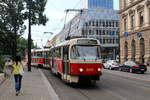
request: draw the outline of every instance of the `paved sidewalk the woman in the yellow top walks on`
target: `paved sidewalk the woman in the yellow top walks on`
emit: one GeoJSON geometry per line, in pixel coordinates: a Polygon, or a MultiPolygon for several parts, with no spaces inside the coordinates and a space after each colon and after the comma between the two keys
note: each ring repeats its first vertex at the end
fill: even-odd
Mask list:
{"type": "Polygon", "coordinates": [[[15,95],[14,84],[14,78],[11,76],[0,85],[0,100],[59,100],[39,69],[32,68],[32,72],[25,71],[19,96],[15,95]]]}

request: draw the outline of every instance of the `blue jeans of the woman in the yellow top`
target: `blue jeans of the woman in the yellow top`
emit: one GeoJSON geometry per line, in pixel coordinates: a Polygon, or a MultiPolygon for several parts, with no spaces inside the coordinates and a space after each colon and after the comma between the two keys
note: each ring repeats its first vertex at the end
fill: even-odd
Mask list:
{"type": "Polygon", "coordinates": [[[15,78],[15,88],[16,88],[16,92],[17,92],[17,91],[20,91],[20,89],[21,89],[22,75],[15,74],[14,78],[15,78]]]}

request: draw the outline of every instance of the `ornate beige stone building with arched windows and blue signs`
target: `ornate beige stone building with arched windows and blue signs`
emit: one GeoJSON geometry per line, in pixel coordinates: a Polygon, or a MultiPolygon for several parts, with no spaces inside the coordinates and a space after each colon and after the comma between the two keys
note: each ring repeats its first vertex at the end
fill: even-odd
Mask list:
{"type": "Polygon", "coordinates": [[[150,0],[120,0],[121,61],[150,57],[150,0]]]}

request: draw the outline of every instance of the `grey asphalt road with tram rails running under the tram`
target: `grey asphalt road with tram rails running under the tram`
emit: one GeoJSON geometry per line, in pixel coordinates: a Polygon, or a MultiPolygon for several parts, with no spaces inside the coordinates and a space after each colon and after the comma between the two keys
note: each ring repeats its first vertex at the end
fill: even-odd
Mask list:
{"type": "Polygon", "coordinates": [[[96,85],[70,86],[50,71],[43,72],[60,100],[150,100],[150,73],[105,70],[96,85]]]}

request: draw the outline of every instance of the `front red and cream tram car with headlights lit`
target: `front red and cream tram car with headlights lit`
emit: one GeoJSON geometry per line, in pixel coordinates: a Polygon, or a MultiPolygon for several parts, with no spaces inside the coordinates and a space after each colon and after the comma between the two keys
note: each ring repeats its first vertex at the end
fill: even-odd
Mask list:
{"type": "Polygon", "coordinates": [[[103,64],[97,39],[76,38],[50,49],[50,68],[68,83],[99,80],[103,64]]]}

